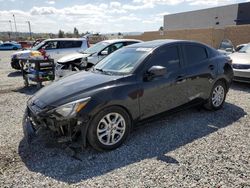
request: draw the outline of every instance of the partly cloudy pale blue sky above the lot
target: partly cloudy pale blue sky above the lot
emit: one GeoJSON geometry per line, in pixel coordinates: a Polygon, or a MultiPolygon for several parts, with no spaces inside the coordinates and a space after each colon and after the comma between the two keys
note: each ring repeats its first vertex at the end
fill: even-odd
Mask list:
{"type": "Polygon", "coordinates": [[[0,0],[0,31],[143,32],[158,30],[163,15],[249,0],[0,0]],[[9,22],[11,20],[11,22],[9,22]],[[11,23],[11,26],[10,26],[11,23]]]}

